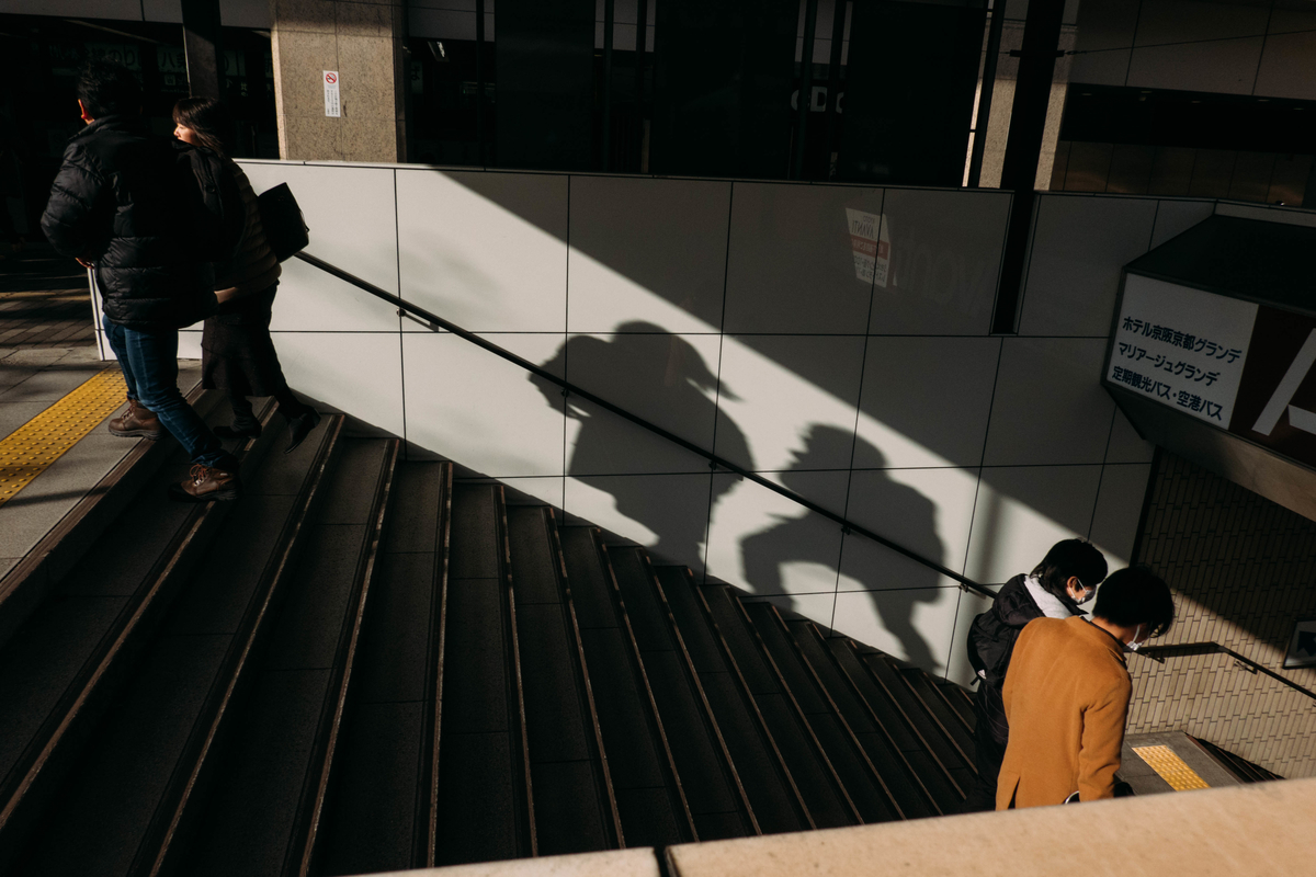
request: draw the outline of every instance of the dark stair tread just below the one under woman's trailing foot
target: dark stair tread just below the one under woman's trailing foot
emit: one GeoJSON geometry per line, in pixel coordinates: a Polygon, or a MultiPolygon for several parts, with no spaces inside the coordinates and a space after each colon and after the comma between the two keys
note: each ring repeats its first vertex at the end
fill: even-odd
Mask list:
{"type": "Polygon", "coordinates": [[[305,527],[230,730],[188,874],[305,873],[392,480],[393,440],[347,439],[305,527]]]}

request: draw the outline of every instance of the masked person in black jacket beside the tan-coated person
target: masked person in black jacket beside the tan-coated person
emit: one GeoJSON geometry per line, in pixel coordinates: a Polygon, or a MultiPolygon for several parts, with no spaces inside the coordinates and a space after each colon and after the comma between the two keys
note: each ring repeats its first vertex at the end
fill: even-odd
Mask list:
{"type": "Polygon", "coordinates": [[[969,628],[969,663],[979,680],[974,698],[978,778],[965,801],[965,813],[996,809],[996,777],[1009,742],[1001,688],[1015,640],[1034,618],[1086,614],[1080,606],[1096,597],[1105,572],[1105,557],[1090,542],[1057,542],[1032,573],[1001,585],[991,609],[974,618],[969,628]]]}

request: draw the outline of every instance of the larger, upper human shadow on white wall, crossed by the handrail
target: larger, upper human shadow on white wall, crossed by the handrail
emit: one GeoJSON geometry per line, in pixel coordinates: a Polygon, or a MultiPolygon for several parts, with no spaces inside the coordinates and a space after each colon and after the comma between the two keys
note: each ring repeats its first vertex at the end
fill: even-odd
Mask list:
{"type": "MultiPolygon", "coordinates": [[[[717,375],[679,335],[646,322],[626,322],[615,331],[611,341],[576,335],[553,359],[541,363],[541,368],[567,375],[571,363],[572,384],[711,450],[717,404],[709,394],[737,397],[726,387],[719,391],[717,375]],[[691,435],[703,423],[708,425],[707,438],[691,435]]],[[[550,406],[561,405],[562,388],[536,375],[530,375],[530,381],[550,406]]],[[[616,476],[594,477],[588,483],[611,493],[620,514],[657,534],[658,540],[649,546],[655,559],[687,564],[701,575],[700,546],[708,510],[740,479],[711,479],[704,460],[579,396],[567,396],[566,415],[580,422],[566,473],[580,479],[616,476]],[[697,497],[674,480],[637,477],[678,471],[704,476],[697,497]]],[[[745,435],[725,417],[717,421],[717,450],[721,456],[749,459],[745,435]]]]}

